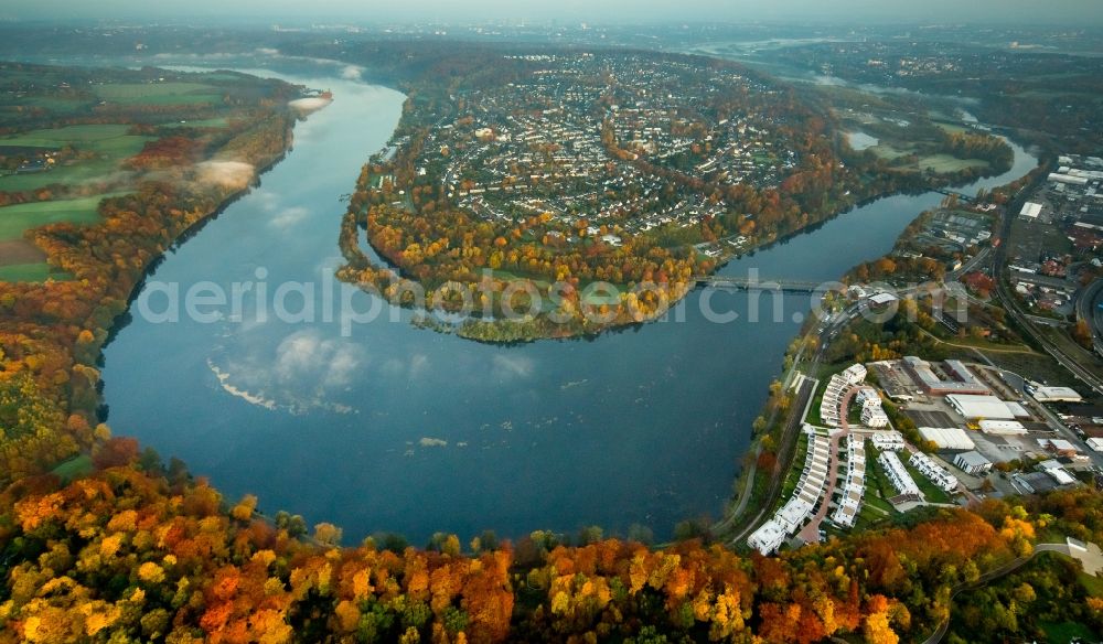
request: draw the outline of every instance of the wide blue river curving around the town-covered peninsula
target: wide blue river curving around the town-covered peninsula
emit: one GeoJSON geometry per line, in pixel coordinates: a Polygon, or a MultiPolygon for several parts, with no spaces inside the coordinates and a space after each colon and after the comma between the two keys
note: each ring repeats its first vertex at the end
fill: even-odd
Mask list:
{"type": "MultiPolygon", "coordinates": [[[[147,289],[336,288],[341,197],[389,138],[404,97],[336,73],[289,79],[332,89],[335,101],[299,124],[287,159],[171,251],[147,289]]],[[[1007,183],[1036,162],[1016,147],[1010,172],[964,191],[1007,183]]],[[[724,272],[835,279],[887,251],[940,200],[877,201],[724,272]]],[[[347,337],[335,321],[258,322],[248,305],[245,323],[136,314],[105,352],[109,422],[184,460],[231,501],[255,493],[263,511],[335,523],[346,541],[593,524],[620,534],[642,524],[663,538],[677,520],[717,516],[730,497],[751,421],[799,329],[792,315],[808,309],[807,297],[785,297],[781,320],[754,323],[747,294],[706,292],[685,300],[682,321],[522,346],[418,330],[407,312],[347,337]],[[710,322],[703,297],[740,318],[710,322]]]]}

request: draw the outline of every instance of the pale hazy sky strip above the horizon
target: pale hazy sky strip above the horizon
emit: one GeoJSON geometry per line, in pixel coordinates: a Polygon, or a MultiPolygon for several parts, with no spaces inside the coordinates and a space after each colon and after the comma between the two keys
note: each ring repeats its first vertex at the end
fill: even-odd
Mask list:
{"type": "Polygon", "coordinates": [[[600,22],[829,20],[1103,24],[1100,0],[0,0],[0,19],[529,19],[600,22]]]}

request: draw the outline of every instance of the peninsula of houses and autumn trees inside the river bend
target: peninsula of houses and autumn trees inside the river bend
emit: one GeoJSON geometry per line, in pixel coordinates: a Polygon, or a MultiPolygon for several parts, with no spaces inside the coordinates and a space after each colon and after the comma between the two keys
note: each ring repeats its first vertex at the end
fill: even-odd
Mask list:
{"type": "MultiPolygon", "coordinates": [[[[661,319],[732,257],[874,198],[999,172],[1014,155],[995,137],[946,135],[917,114],[934,132],[924,153],[967,151],[990,162],[941,174],[887,164],[852,149],[842,117],[823,114],[817,96],[719,60],[698,67],[697,56],[679,61],[683,98],[662,100],[694,97],[700,114],[676,131],[653,128],[655,140],[641,147],[618,126],[615,105],[586,127],[576,121],[601,106],[585,98],[517,120],[504,106],[539,100],[540,85],[486,77],[462,64],[472,55],[449,79],[482,87],[470,97],[442,92],[432,73],[409,79],[397,130],[350,198],[340,277],[373,294],[404,293],[387,297],[392,304],[421,309],[433,300],[447,314],[435,328],[483,342],[593,336],[661,319]],[[733,72],[726,78],[739,99],[714,105],[715,87],[699,84],[713,67],[733,72]],[[760,112],[771,116],[749,116],[760,112]],[[549,130],[563,140],[546,140],[549,130]],[[667,151],[672,140],[685,146],[667,151]],[[612,294],[596,297],[598,288],[612,294]]],[[[665,69],[670,57],[636,63],[665,69]]],[[[533,72],[508,60],[502,64],[520,78],[555,75],[565,64],[533,72]]],[[[611,95],[624,82],[597,78],[580,96],[611,95]]]]}

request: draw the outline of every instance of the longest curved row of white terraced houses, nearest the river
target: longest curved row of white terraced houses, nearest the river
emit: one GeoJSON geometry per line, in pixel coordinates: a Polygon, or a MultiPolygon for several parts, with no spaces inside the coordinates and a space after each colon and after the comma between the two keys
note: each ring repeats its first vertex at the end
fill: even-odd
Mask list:
{"type": "Polygon", "coordinates": [[[831,468],[831,442],[826,437],[817,436],[808,425],[804,426],[804,432],[808,434],[808,450],[793,497],[774,513],[773,518],[747,538],[747,545],[763,555],[775,551],[808,520],[823,496],[827,476],[834,475],[831,468]]]}

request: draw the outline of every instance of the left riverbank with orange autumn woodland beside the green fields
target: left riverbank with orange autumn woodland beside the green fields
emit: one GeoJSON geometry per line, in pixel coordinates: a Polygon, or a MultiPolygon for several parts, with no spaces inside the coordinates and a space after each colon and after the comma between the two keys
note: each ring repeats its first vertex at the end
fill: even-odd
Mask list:
{"type": "MultiPolygon", "coordinates": [[[[21,67],[6,67],[6,73],[13,68],[21,67]]],[[[74,85],[98,79],[100,92],[114,93],[110,110],[82,116],[79,99],[75,105],[57,100],[29,117],[23,129],[46,132],[55,137],[51,144],[78,151],[122,140],[127,144],[115,150],[108,165],[113,182],[126,182],[127,190],[88,200],[93,210],[82,225],[47,219],[24,232],[64,279],[0,283],[0,386],[19,390],[20,407],[28,410],[26,420],[3,437],[0,481],[41,474],[74,454],[104,448],[110,432],[99,425],[98,365],[104,346],[125,323],[128,302],[174,244],[228,207],[290,149],[296,117],[287,104],[299,96],[292,85],[246,76],[161,72],[163,83],[152,84],[146,80],[157,71],[150,69],[33,69],[74,85]],[[162,107],[150,118],[149,93],[163,98],[197,86],[223,94],[162,107]],[[50,109],[60,112],[52,116],[50,109]],[[141,124],[135,125],[139,117],[141,124]],[[75,118],[93,122],[46,127],[75,118]],[[185,121],[197,125],[183,127],[185,121]],[[76,139],[58,138],[66,133],[76,139]]],[[[47,189],[36,193],[38,202],[50,202],[54,194],[64,198],[69,182],[100,169],[100,161],[77,153],[72,163],[43,175],[47,189]]]]}

